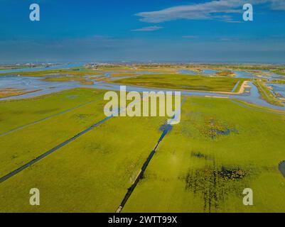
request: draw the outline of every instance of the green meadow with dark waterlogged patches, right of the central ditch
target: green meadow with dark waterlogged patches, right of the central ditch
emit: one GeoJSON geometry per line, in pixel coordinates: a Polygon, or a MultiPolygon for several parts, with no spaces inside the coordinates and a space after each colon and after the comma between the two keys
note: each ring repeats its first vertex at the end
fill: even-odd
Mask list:
{"type": "Polygon", "coordinates": [[[125,212],[285,211],[284,116],[205,98],[189,98],[182,111],[125,212]],[[254,206],[242,204],[244,188],[254,206]]]}

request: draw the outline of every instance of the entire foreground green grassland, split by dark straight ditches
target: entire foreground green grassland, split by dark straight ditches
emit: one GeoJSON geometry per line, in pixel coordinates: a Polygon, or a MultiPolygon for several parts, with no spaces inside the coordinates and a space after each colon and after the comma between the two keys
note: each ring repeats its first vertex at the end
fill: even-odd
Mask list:
{"type": "MultiPolygon", "coordinates": [[[[0,177],[105,118],[104,91],[0,102],[0,177]],[[11,130],[8,134],[7,133],[11,130]]],[[[123,212],[284,210],[284,113],[188,97],[123,212]],[[244,188],[254,206],[242,204],[244,188]]],[[[161,136],[163,117],[110,118],[0,183],[0,211],[114,212],[161,136]],[[31,188],[41,205],[29,204],[31,188]]]]}

